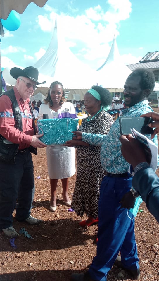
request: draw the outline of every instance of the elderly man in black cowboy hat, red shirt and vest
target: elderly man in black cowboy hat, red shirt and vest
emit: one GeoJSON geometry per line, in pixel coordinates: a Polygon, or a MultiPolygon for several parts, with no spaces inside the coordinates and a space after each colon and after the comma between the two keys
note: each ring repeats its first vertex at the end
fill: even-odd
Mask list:
{"type": "Polygon", "coordinates": [[[15,218],[29,224],[41,220],[30,215],[34,198],[34,174],[32,151],[46,146],[36,135],[34,117],[30,104],[39,83],[38,70],[32,66],[23,70],[14,67],[10,70],[16,85],[0,96],[0,229],[8,237],[19,234],[12,226],[15,218]],[[16,206],[17,201],[17,206],[16,206]]]}

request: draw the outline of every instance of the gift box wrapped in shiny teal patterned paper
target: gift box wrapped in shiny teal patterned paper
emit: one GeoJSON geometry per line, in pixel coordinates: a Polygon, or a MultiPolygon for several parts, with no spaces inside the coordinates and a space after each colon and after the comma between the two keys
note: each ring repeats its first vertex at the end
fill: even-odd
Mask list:
{"type": "Polygon", "coordinates": [[[46,145],[58,145],[72,140],[72,131],[77,131],[78,121],[72,118],[38,120],[38,134],[44,134],[39,140],[46,145]]]}

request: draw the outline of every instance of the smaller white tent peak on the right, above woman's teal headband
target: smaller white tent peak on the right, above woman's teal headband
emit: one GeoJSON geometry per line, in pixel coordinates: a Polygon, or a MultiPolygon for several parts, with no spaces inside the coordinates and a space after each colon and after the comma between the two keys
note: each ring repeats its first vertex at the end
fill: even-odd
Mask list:
{"type": "MultiPolygon", "coordinates": [[[[123,89],[125,81],[132,72],[121,60],[115,37],[104,64],[97,69],[98,85],[104,88],[123,89]]],[[[119,91],[120,92],[120,91],[119,91]]]]}

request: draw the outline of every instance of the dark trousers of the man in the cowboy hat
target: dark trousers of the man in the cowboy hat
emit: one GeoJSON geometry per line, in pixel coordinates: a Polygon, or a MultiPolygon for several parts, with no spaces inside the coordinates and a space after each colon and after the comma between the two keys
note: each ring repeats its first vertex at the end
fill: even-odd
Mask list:
{"type": "Polygon", "coordinates": [[[15,207],[18,221],[29,217],[34,191],[33,162],[29,149],[18,152],[13,164],[0,161],[0,229],[12,225],[15,207]]]}

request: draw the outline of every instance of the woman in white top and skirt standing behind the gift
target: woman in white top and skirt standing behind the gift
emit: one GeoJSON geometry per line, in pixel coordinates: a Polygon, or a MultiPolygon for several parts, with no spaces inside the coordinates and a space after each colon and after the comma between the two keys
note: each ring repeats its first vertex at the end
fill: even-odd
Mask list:
{"type": "MultiPolygon", "coordinates": [[[[48,104],[41,104],[38,119],[43,119],[43,114],[48,114],[49,119],[58,117],[59,113],[75,113],[72,103],[65,102],[63,85],[53,82],[48,93],[48,104]]],[[[67,206],[71,206],[68,196],[68,178],[75,174],[75,148],[62,145],[47,145],[46,147],[48,174],[51,185],[50,210],[56,211],[56,188],[58,179],[61,179],[63,192],[62,197],[67,206]]]]}

